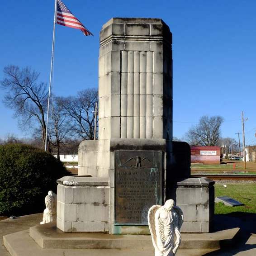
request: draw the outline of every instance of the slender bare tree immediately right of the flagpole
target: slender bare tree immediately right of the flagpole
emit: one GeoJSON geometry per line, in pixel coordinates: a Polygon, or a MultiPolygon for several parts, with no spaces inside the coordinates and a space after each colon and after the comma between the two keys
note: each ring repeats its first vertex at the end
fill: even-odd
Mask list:
{"type": "Polygon", "coordinates": [[[52,105],[51,116],[51,144],[57,149],[57,158],[60,159],[60,148],[65,144],[68,134],[70,133],[71,124],[68,120],[68,114],[65,112],[62,98],[55,98],[52,105]]]}

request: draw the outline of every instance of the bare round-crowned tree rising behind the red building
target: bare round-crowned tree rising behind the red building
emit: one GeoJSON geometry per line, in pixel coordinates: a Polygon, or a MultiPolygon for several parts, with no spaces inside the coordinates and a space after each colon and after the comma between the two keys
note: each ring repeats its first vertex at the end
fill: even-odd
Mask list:
{"type": "Polygon", "coordinates": [[[217,146],[222,123],[220,116],[202,116],[199,123],[186,133],[187,141],[190,145],[217,146]]]}

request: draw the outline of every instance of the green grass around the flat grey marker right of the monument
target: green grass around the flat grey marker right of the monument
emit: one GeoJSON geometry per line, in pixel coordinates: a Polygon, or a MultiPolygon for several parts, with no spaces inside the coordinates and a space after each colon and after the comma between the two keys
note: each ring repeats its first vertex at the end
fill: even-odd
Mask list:
{"type": "Polygon", "coordinates": [[[227,183],[227,187],[215,184],[216,196],[229,196],[245,204],[244,206],[230,207],[223,203],[215,203],[215,214],[233,212],[256,213],[256,183],[227,183]]]}

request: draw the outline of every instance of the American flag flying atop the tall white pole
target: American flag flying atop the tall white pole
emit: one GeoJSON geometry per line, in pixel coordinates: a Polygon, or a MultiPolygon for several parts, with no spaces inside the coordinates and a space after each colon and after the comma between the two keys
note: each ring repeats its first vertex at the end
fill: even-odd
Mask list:
{"type": "Polygon", "coordinates": [[[85,36],[93,34],[71,13],[61,0],[57,0],[57,24],[80,29],[85,36]]]}

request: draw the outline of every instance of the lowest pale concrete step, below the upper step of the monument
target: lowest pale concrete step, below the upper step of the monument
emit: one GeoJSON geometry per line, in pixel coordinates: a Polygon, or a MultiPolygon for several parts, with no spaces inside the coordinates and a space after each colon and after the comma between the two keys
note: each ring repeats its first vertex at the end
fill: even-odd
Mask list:
{"type": "MultiPolygon", "coordinates": [[[[29,230],[6,235],[4,244],[11,256],[153,256],[149,249],[43,249],[29,236],[29,230]]],[[[203,256],[216,249],[179,249],[176,256],[203,256]]]]}

